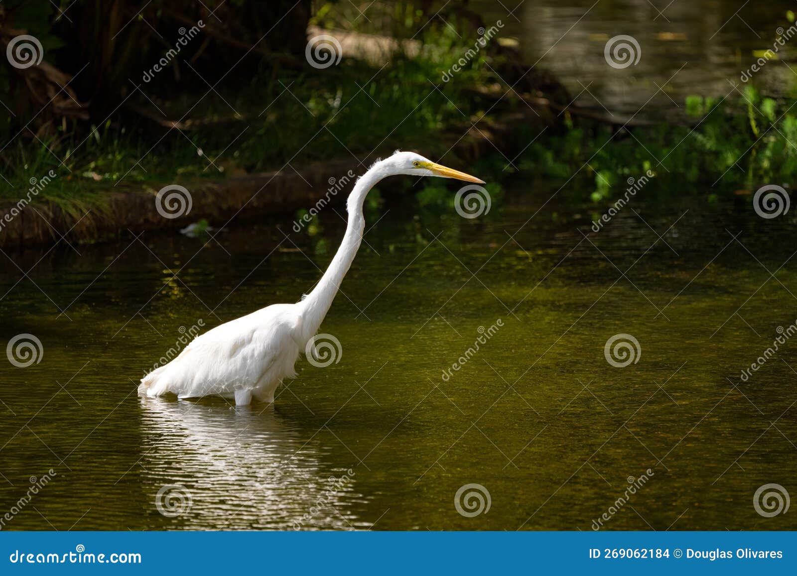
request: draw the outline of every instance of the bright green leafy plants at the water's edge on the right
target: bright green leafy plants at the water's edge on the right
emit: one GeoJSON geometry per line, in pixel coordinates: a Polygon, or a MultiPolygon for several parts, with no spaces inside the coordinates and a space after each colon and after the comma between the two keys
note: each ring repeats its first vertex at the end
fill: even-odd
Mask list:
{"type": "Polygon", "coordinates": [[[762,96],[751,85],[733,100],[688,96],[689,125],[659,124],[566,134],[534,143],[521,168],[570,178],[579,167],[594,179],[591,198],[611,197],[627,178],[652,170],[654,186],[705,186],[715,192],[754,189],[762,183],[791,184],[797,174],[795,100],[762,96]],[[633,131],[631,137],[628,131],[633,131]]]}

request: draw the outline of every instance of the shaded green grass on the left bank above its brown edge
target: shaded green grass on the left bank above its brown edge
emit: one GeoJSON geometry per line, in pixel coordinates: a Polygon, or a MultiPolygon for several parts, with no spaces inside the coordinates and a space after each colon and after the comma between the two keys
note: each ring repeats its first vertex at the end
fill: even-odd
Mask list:
{"type": "MultiPolygon", "coordinates": [[[[475,113],[478,104],[468,108],[473,98],[465,89],[485,80],[487,55],[481,53],[438,89],[429,79],[450,68],[472,40],[430,25],[417,41],[420,52],[410,57],[398,51],[384,66],[350,58],[323,70],[275,69],[261,62],[251,76],[231,76],[213,90],[197,89],[195,82],[178,86],[165,70],[160,73],[168,81],[142,84],[140,94],[125,99],[116,114],[86,126],[53,123],[41,142],[27,132],[14,137],[23,122],[10,121],[10,146],[0,159],[11,186],[2,196],[18,198],[29,178],[50,169],[65,177],[37,201],[70,188],[92,195],[108,186],[290,170],[312,160],[384,153],[408,144],[440,148],[440,129],[467,126],[475,113]],[[141,118],[141,109],[150,113],[141,118]],[[165,120],[175,120],[175,127],[163,125],[165,120]]],[[[177,60],[173,65],[186,66],[177,60]]]]}

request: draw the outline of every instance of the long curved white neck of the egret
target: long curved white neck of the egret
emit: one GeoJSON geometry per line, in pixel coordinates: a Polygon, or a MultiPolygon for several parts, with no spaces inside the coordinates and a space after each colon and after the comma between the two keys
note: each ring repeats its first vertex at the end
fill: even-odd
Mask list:
{"type": "Polygon", "coordinates": [[[346,272],[351,267],[351,262],[359,249],[360,242],[363,241],[363,231],[365,230],[365,218],[363,217],[363,202],[371,188],[388,174],[381,163],[375,164],[361,178],[357,180],[351,190],[347,201],[348,223],[344,239],[340,243],[340,248],[332,258],[329,268],[321,276],[321,280],[316,284],[299,305],[302,307],[301,338],[303,341],[311,339],[324,321],[332,300],[340,289],[346,272]]]}

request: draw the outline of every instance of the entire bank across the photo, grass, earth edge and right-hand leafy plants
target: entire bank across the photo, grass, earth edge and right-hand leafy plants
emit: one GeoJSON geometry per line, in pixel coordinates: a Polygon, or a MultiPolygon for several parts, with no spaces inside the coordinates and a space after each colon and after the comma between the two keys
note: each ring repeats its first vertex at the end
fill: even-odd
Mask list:
{"type": "Polygon", "coordinates": [[[125,99],[118,117],[88,134],[9,148],[0,247],[290,214],[340,186],[331,179],[362,174],[396,148],[455,167],[493,156],[492,173],[480,167],[485,179],[523,171],[569,185],[596,206],[646,174],[654,174],[646,191],[666,180],[709,201],[764,185],[788,194],[794,183],[792,99],[748,84],[727,100],[689,96],[685,121],[595,112],[488,31],[485,49],[469,54],[465,39],[399,43],[336,30],[347,58],[310,76],[254,76],[201,97],[147,86],[149,94],[125,99]],[[184,207],[172,198],[180,214],[160,206],[164,187],[183,195],[184,207]]]}

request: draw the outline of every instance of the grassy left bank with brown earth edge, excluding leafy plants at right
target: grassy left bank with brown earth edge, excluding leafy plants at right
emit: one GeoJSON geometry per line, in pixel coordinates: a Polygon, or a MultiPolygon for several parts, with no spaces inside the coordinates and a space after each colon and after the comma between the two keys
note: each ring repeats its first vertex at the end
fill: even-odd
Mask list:
{"type": "MultiPolygon", "coordinates": [[[[322,52],[332,46],[345,57],[327,64],[308,54],[306,68],[230,76],[210,91],[186,82],[175,92],[163,75],[163,84],[145,79],[90,129],[60,135],[47,124],[51,135],[26,142],[14,141],[22,130],[12,131],[0,246],[102,241],[202,220],[218,229],[232,218],[309,209],[328,195],[329,182],[362,174],[397,148],[458,167],[486,155],[514,157],[519,128],[536,134],[563,127],[562,119],[512,97],[498,103],[476,88],[506,90],[497,76],[514,82],[520,74],[516,91],[559,100],[567,93],[497,39],[490,43],[496,31],[485,32],[462,68],[469,39],[429,33],[397,42],[311,25],[311,42],[329,34],[322,52]],[[455,66],[454,76],[441,79],[455,66]],[[176,206],[179,214],[162,206],[175,190],[185,204],[176,206]]],[[[335,194],[332,202],[340,199],[335,194]]]]}

